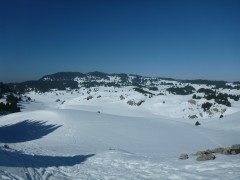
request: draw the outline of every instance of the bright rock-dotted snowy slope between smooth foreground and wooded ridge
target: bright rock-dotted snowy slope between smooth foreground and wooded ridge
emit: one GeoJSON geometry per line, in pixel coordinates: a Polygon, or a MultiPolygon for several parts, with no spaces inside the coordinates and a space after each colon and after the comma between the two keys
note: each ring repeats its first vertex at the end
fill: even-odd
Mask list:
{"type": "MultiPolygon", "coordinates": [[[[200,86],[201,87],[201,86],[200,86]]],[[[153,91],[151,93],[154,93],[153,91]]],[[[238,95],[238,91],[235,94],[238,95]]],[[[134,87],[95,87],[77,90],[52,90],[45,93],[30,91],[26,94],[32,103],[22,103],[25,110],[29,109],[77,109],[93,112],[104,112],[122,116],[155,116],[171,118],[219,118],[240,111],[240,101],[229,99],[231,107],[214,103],[214,100],[192,99],[190,95],[149,96],[136,92],[134,87]],[[140,103],[140,105],[137,105],[140,103]],[[211,102],[212,107],[204,111],[202,104],[211,102]]],[[[198,96],[201,94],[198,93],[198,96]]]]}

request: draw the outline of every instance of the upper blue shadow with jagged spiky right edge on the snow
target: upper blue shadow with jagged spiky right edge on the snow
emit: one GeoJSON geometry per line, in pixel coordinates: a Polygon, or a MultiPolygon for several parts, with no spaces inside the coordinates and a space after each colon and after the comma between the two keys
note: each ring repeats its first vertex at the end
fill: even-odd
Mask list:
{"type": "Polygon", "coordinates": [[[47,125],[46,121],[25,120],[0,127],[0,142],[20,143],[40,139],[55,131],[60,125],[47,125]]]}

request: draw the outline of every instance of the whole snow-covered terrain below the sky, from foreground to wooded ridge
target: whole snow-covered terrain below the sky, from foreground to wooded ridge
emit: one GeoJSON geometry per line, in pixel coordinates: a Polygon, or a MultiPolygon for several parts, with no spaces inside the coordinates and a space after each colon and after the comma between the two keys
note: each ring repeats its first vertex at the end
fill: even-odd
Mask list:
{"type": "Polygon", "coordinates": [[[0,179],[240,177],[240,154],[194,155],[240,144],[237,82],[94,72],[9,86],[22,112],[0,116],[0,179]]]}

